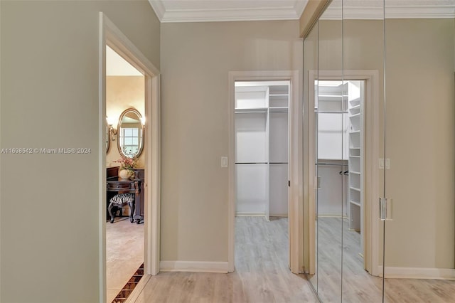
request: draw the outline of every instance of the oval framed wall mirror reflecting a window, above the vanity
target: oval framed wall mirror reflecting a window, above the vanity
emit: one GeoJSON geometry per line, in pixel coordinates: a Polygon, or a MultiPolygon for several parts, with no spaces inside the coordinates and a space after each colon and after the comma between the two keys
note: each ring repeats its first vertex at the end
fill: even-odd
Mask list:
{"type": "Polygon", "coordinates": [[[141,113],[134,108],[122,112],[117,127],[119,153],[128,158],[137,158],[144,149],[144,127],[141,113]]]}

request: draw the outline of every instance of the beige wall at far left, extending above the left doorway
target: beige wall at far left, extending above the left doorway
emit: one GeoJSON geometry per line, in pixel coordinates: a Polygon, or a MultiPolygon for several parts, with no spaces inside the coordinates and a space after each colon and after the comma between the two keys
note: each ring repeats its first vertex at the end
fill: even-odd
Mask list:
{"type": "MultiPolygon", "coordinates": [[[[0,1],[1,302],[98,302],[98,28],[105,12],[159,67],[148,1],[0,1]],[[10,125],[18,125],[11,128],[10,125]]],[[[104,152],[103,149],[100,152],[104,152]]]]}

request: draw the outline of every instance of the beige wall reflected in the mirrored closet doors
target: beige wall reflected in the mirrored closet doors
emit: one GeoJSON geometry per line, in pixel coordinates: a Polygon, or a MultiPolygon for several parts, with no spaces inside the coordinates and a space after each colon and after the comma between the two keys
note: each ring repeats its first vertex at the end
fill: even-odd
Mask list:
{"type": "MultiPolygon", "coordinates": [[[[319,23],[321,69],[341,66],[339,23],[319,23]]],[[[386,266],[454,268],[454,20],[388,19],[386,28],[386,196],[394,201],[386,266]]],[[[382,21],[345,21],[343,38],[345,70],[379,70],[383,100],[382,21]]],[[[316,67],[313,40],[306,43],[305,75],[316,67]]],[[[382,101],[379,108],[383,154],[382,101]]]]}

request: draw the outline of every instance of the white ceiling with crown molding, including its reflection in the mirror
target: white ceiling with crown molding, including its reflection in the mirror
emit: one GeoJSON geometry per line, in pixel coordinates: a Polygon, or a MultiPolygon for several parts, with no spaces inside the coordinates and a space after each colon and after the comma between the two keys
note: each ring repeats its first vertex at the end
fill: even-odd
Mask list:
{"type": "MultiPolygon", "coordinates": [[[[316,0],[149,0],[162,23],[297,20],[316,0]]],[[[383,0],[343,0],[344,18],[382,18],[383,0]]],[[[387,18],[454,18],[455,0],[385,0],[387,18]]],[[[333,0],[326,18],[341,16],[333,0]]]]}

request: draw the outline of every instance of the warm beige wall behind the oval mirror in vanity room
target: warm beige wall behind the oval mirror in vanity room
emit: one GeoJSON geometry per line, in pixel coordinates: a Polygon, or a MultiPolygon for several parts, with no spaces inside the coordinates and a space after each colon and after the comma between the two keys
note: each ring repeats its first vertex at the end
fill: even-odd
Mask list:
{"type": "MultiPolygon", "coordinates": [[[[134,108],[145,117],[145,78],[144,76],[107,76],[106,77],[106,116],[115,119],[118,123],[120,115],[128,108],[134,108]]],[[[112,127],[117,129],[117,123],[112,127]]],[[[147,132],[147,129],[145,130],[147,132]]],[[[106,166],[118,166],[120,159],[116,141],[111,141],[109,152],[106,155],[106,166]]],[[[146,146],[139,156],[137,167],[144,167],[146,146]]]]}

